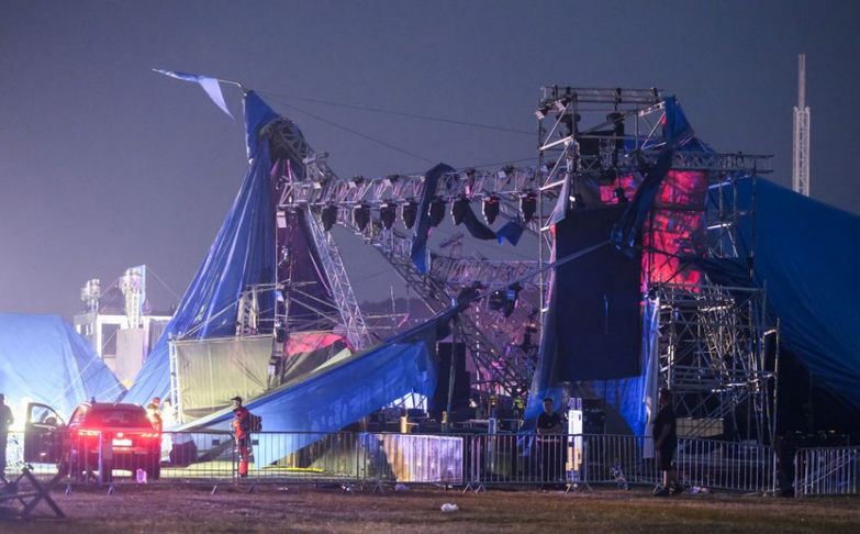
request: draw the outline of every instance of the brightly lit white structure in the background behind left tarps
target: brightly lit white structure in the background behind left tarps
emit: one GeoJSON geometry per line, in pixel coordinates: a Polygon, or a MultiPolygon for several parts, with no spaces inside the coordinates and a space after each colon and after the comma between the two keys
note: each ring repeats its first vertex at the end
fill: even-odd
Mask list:
{"type": "Polygon", "coordinates": [[[112,287],[98,278],[80,290],[86,312],[75,315],[75,330],[92,345],[126,386],[161,335],[170,315],[152,315],[146,300],[146,266],[130,267],[112,287]]]}

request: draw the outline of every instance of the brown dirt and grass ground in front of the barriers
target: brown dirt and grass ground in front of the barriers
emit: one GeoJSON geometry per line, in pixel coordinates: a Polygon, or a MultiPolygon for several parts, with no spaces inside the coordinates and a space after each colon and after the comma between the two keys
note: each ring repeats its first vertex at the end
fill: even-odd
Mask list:
{"type": "MultiPolygon", "coordinates": [[[[860,532],[860,499],[778,499],[736,494],[655,498],[647,489],[487,492],[410,488],[383,493],[339,487],[167,485],[57,488],[65,520],[9,519],[2,533],[667,533],[860,532]],[[457,504],[443,512],[445,503],[457,504]]],[[[40,504],[44,516],[49,509],[40,504]]]]}

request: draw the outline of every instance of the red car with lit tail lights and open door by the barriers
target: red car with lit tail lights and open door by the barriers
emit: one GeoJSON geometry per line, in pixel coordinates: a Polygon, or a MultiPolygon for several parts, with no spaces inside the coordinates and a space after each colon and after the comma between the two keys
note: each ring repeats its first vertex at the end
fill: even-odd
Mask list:
{"type": "Polygon", "coordinates": [[[139,404],[83,402],[68,424],[51,407],[31,404],[24,432],[25,461],[67,465],[76,480],[98,471],[100,457],[108,479],[113,469],[161,476],[161,434],[139,404]]]}

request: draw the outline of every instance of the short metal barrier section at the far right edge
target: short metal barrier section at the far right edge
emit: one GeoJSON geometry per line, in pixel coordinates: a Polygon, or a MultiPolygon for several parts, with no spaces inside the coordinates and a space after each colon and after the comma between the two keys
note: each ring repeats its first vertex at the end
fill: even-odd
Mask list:
{"type": "Polygon", "coordinates": [[[801,448],[794,455],[794,494],[849,496],[860,492],[858,447],[801,448]]]}

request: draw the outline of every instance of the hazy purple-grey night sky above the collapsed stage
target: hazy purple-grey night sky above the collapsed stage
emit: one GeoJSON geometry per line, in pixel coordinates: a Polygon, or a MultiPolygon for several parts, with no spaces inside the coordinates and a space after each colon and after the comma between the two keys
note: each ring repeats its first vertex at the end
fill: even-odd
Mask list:
{"type": "MultiPolygon", "coordinates": [[[[541,86],[656,86],[791,187],[805,53],[812,196],[858,213],[858,24],[852,1],[3,0],[0,312],[71,321],[86,280],[141,264],[155,309],[185,292],[245,175],[242,93],[232,122],[154,67],[242,81],[342,177],[533,165],[541,86]]],[[[348,248],[359,300],[388,293],[377,256],[348,248]]]]}

